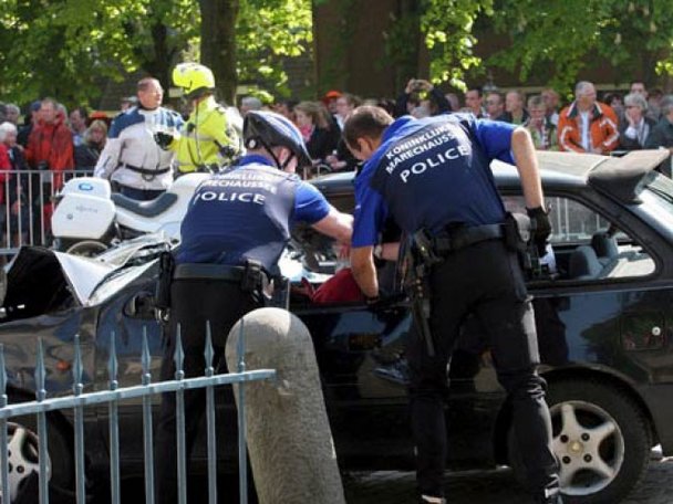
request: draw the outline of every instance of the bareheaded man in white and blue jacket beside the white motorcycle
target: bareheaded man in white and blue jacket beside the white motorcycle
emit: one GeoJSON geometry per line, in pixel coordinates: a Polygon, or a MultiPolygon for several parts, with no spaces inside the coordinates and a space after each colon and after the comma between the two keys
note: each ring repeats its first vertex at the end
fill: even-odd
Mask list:
{"type": "Polygon", "coordinates": [[[157,130],[177,130],[183,118],[162,107],[164,90],[152,77],[137,84],[138,105],[117,115],[94,169],[94,177],[108,179],[118,192],[135,200],[157,198],[173,183],[173,153],[154,141],[157,130]]]}

